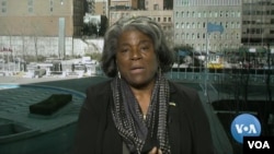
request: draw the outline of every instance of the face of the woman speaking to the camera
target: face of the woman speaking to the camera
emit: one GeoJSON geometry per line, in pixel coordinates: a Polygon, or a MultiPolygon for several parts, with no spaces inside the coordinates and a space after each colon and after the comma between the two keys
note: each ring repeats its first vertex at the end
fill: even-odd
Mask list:
{"type": "Polygon", "coordinates": [[[129,29],[118,38],[116,63],[121,76],[132,86],[145,86],[153,82],[158,60],[150,37],[137,29],[129,29]]]}

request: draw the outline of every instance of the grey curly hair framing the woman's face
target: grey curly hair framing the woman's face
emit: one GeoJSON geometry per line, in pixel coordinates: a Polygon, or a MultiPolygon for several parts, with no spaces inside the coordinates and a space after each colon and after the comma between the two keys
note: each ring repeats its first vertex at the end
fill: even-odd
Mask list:
{"type": "Polygon", "coordinates": [[[123,32],[137,29],[151,38],[162,72],[168,72],[174,61],[173,51],[168,47],[161,26],[147,16],[123,17],[109,27],[104,36],[101,67],[103,72],[114,78],[117,74],[116,49],[123,32]]]}

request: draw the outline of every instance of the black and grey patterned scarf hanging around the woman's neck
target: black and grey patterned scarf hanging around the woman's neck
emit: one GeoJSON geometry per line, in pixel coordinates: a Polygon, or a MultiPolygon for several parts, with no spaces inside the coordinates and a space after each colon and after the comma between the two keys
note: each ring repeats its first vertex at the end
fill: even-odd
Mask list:
{"type": "Polygon", "coordinates": [[[112,115],[115,127],[133,154],[149,152],[158,146],[170,154],[167,116],[169,103],[169,83],[157,75],[151,102],[146,118],[128,84],[119,78],[112,82],[114,104],[112,115]]]}

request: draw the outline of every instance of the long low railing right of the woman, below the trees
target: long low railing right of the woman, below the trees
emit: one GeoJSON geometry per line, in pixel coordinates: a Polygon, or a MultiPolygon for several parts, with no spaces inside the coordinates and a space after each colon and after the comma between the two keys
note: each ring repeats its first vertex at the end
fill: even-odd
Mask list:
{"type": "Polygon", "coordinates": [[[167,78],[172,80],[181,80],[185,82],[197,82],[197,83],[224,83],[224,82],[242,82],[248,81],[249,84],[266,84],[267,75],[270,76],[270,85],[274,85],[274,70],[267,69],[173,69],[165,74],[167,78]],[[270,73],[270,74],[269,74],[270,73]],[[243,81],[244,80],[244,81],[243,81]]]}

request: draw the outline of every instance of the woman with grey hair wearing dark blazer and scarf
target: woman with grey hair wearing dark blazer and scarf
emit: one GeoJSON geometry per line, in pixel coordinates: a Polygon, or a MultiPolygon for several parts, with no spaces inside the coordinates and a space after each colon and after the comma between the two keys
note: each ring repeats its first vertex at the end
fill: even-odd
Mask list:
{"type": "Polygon", "coordinates": [[[197,93],[168,81],[172,51],[149,17],[122,19],[104,38],[102,69],[112,80],[87,90],[77,154],[213,154],[197,93]]]}

